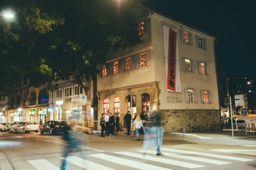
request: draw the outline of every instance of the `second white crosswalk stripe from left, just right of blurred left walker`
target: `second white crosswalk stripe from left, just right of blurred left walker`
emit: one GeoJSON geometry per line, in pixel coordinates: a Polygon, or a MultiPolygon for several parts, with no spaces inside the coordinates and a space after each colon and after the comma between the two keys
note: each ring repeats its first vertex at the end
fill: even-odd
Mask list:
{"type": "MultiPolygon", "coordinates": [[[[64,159],[64,158],[61,158],[61,159],[64,159]]],[[[75,164],[79,167],[85,168],[85,169],[114,170],[112,168],[109,168],[109,167],[106,167],[106,166],[103,166],[103,165],[100,165],[100,164],[96,164],[96,163],[90,162],[89,160],[85,160],[85,159],[82,159],[82,158],[79,158],[79,157],[76,157],[76,156],[68,156],[67,161],[72,163],[72,164],[75,164]]]]}

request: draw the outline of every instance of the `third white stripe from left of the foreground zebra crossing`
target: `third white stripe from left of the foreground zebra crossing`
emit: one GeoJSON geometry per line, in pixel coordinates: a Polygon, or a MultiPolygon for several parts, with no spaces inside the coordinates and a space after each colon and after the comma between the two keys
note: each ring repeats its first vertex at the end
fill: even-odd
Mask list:
{"type": "MultiPolygon", "coordinates": [[[[89,156],[95,157],[95,158],[100,158],[103,160],[107,160],[108,162],[113,162],[116,164],[120,164],[120,165],[125,165],[125,166],[129,166],[129,167],[133,167],[136,169],[141,169],[141,170],[167,170],[169,168],[164,168],[164,167],[160,167],[160,166],[155,166],[155,165],[148,165],[148,164],[144,164],[144,163],[140,163],[137,161],[133,161],[133,160],[129,160],[129,159],[124,159],[124,158],[119,158],[116,156],[111,156],[111,155],[106,155],[106,154],[91,154],[89,156]]],[[[140,155],[140,157],[142,157],[140,155]]],[[[169,169],[170,170],[170,169],[169,169]]]]}

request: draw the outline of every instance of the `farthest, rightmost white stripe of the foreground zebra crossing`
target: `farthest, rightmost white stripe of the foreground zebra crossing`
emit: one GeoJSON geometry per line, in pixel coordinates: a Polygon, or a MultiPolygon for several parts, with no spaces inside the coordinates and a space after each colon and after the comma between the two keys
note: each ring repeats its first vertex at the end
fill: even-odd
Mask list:
{"type": "Polygon", "coordinates": [[[217,154],[207,154],[207,153],[203,153],[203,152],[186,151],[186,150],[169,149],[169,148],[161,149],[161,150],[180,152],[180,153],[183,153],[183,154],[194,154],[194,155],[209,156],[209,157],[214,157],[214,158],[237,160],[237,161],[242,161],[242,162],[247,162],[247,161],[254,160],[254,159],[238,158],[238,157],[233,157],[233,156],[225,156],[225,155],[217,155],[217,154]]]}

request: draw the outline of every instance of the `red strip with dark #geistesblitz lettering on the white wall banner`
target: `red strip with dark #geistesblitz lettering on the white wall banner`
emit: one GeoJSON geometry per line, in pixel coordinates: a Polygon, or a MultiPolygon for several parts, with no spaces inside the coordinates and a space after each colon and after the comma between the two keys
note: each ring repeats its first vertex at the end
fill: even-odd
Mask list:
{"type": "Polygon", "coordinates": [[[169,28],[167,89],[175,91],[176,87],[176,46],[177,32],[169,28]]]}

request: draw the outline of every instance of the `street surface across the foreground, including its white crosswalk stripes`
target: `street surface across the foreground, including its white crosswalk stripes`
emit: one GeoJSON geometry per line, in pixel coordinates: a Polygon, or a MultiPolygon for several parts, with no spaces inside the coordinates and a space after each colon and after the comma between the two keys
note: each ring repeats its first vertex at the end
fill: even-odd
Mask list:
{"type": "MultiPolygon", "coordinates": [[[[209,134],[209,137],[183,138],[181,134],[165,134],[164,156],[156,156],[155,147],[142,156],[143,140],[137,141],[123,132],[113,138],[101,138],[100,134],[77,135],[81,143],[70,152],[67,169],[255,169],[255,137],[219,137],[209,134]]],[[[60,169],[66,147],[62,134],[0,132],[0,167],[60,169]]]]}

